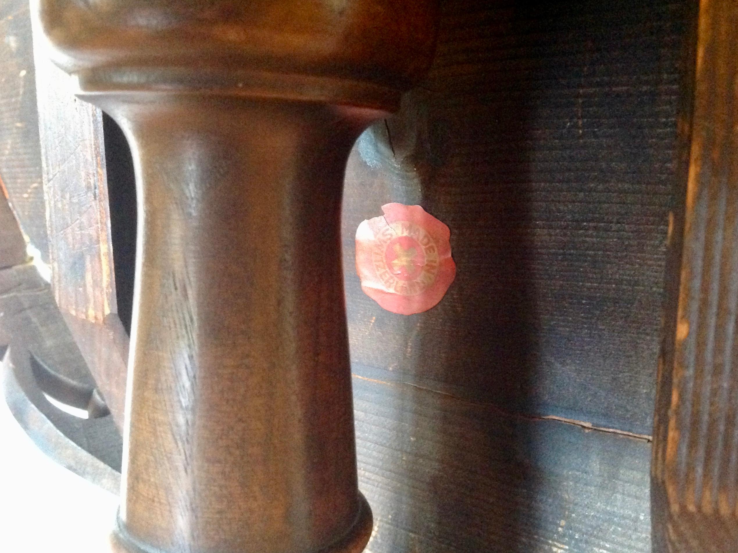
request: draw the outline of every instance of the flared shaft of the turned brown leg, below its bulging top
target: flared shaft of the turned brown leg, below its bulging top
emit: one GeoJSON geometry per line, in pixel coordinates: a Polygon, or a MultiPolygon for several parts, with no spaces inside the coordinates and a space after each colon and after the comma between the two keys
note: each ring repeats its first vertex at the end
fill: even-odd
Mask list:
{"type": "Polygon", "coordinates": [[[373,113],[100,101],[141,196],[123,524],[165,551],[319,551],[361,505],[339,209],[373,113]]]}

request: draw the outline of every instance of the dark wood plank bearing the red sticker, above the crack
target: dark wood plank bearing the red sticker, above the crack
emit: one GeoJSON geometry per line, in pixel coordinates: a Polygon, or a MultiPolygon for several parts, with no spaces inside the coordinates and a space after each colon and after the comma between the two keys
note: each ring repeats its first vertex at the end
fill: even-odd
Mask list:
{"type": "Polygon", "coordinates": [[[348,164],[354,364],[650,434],[688,4],[441,3],[430,77],[348,164]],[[451,229],[456,280],[427,313],[359,288],[354,232],[390,201],[451,229]]]}

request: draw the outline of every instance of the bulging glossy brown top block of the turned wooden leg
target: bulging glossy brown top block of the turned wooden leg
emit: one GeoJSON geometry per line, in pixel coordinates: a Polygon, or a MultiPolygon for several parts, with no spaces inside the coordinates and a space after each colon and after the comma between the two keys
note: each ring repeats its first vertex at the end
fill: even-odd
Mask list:
{"type": "Polygon", "coordinates": [[[89,90],[386,105],[424,74],[435,41],[432,0],[35,1],[53,59],[89,90]]]}

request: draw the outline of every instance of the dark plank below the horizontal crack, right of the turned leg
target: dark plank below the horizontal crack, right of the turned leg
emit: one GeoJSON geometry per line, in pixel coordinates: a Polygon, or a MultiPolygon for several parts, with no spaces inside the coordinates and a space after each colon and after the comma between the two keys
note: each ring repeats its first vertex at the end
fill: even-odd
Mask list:
{"type": "Polygon", "coordinates": [[[644,439],[354,378],[370,553],[649,552],[644,439]]]}

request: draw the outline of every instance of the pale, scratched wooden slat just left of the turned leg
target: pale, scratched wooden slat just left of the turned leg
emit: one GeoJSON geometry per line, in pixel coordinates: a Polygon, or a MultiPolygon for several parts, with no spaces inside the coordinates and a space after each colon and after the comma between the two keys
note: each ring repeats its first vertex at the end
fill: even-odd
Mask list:
{"type": "Polygon", "coordinates": [[[38,35],[34,55],[52,290],[122,427],[128,344],[117,316],[103,114],[75,97],[38,35]]]}

